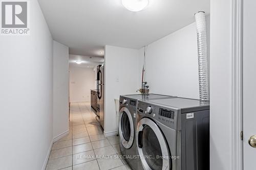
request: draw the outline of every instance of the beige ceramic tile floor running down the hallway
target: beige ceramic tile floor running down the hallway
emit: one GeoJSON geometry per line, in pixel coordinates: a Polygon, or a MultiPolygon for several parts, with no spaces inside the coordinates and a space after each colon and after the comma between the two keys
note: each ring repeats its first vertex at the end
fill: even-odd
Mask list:
{"type": "Polygon", "coordinates": [[[125,160],[116,158],[119,137],[103,135],[90,103],[72,103],[70,112],[69,135],[53,143],[47,170],[131,169],[125,160]]]}

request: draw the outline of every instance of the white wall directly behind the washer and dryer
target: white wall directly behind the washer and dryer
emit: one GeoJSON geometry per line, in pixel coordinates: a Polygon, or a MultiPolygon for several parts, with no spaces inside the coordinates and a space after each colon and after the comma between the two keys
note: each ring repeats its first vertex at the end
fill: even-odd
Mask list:
{"type": "MultiPolygon", "coordinates": [[[[207,28],[209,35],[209,16],[207,28]]],[[[140,81],[143,51],[141,48],[139,52],[140,81]]],[[[199,99],[196,23],[149,44],[145,69],[145,81],[151,93],[199,99]]]]}

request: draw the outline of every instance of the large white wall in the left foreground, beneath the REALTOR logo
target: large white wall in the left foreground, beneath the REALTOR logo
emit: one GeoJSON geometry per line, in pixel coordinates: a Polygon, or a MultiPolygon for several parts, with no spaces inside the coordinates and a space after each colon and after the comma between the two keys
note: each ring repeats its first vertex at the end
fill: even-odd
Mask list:
{"type": "Polygon", "coordinates": [[[0,169],[42,169],[53,139],[53,40],[37,1],[30,35],[1,36],[0,56],[0,169]]]}

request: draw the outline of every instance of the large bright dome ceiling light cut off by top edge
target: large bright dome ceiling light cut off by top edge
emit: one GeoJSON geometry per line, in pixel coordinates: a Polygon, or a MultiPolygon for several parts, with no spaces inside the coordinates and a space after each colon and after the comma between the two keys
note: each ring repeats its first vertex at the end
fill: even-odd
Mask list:
{"type": "Polygon", "coordinates": [[[148,0],[121,0],[122,5],[130,11],[138,12],[146,8],[148,0]]]}

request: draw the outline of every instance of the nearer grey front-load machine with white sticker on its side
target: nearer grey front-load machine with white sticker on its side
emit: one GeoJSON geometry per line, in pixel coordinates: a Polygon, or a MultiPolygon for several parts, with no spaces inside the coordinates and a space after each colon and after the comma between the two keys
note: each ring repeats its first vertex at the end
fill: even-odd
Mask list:
{"type": "Polygon", "coordinates": [[[138,169],[209,169],[209,102],[138,101],[138,169]]]}

